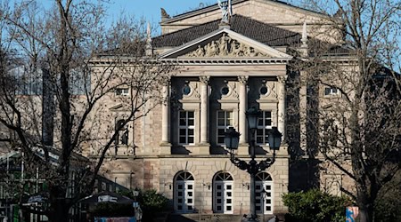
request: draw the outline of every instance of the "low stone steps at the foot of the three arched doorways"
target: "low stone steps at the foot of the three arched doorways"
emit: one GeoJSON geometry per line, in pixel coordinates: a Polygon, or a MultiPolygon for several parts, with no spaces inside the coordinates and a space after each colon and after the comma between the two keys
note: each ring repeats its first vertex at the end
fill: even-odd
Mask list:
{"type": "MultiPolygon", "coordinates": [[[[273,218],[273,215],[259,215],[259,221],[262,222],[268,221],[270,218],[273,218]]],[[[166,222],[241,222],[242,215],[233,215],[233,214],[170,214],[166,222]]],[[[158,221],[165,222],[165,221],[158,221]]]]}

